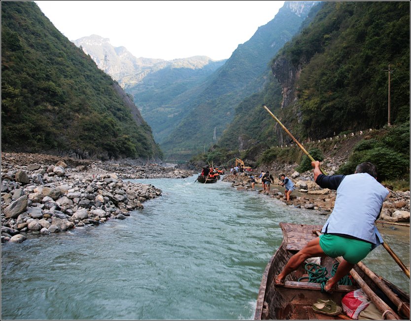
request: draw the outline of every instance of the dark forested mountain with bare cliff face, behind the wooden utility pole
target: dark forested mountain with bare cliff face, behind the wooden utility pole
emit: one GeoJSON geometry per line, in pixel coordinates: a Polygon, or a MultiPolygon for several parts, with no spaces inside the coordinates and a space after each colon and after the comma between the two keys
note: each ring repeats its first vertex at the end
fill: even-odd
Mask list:
{"type": "Polygon", "coordinates": [[[388,117],[388,68],[391,124],[407,123],[410,2],[327,1],[271,67],[270,83],[237,106],[220,146],[290,142],[263,104],[300,140],[380,128],[388,117]]]}

